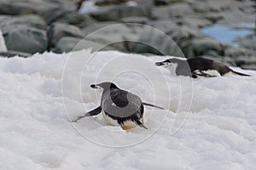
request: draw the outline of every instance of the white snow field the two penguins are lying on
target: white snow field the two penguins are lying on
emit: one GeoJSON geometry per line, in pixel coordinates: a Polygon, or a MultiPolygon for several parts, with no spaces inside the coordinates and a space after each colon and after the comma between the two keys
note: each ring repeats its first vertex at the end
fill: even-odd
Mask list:
{"type": "Polygon", "coordinates": [[[160,56],[116,51],[0,58],[0,169],[254,169],[256,71],[172,77],[160,56]],[[91,83],[113,81],[169,111],[145,109],[124,131],[102,115],[91,83]]]}

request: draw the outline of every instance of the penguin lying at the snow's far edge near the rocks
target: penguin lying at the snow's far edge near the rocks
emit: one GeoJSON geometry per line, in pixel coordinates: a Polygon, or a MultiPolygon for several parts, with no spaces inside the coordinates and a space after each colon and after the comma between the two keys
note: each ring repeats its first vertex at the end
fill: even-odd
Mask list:
{"type": "Polygon", "coordinates": [[[250,75],[233,71],[232,69],[230,69],[229,66],[224,65],[218,61],[202,57],[196,57],[191,59],[166,59],[165,61],[156,62],[155,65],[173,65],[174,67],[176,67],[175,72],[177,76],[190,76],[193,78],[216,77],[216,74],[213,75],[213,72],[217,72],[220,76],[224,76],[225,74],[231,72],[239,76],[250,77],[250,75]]]}

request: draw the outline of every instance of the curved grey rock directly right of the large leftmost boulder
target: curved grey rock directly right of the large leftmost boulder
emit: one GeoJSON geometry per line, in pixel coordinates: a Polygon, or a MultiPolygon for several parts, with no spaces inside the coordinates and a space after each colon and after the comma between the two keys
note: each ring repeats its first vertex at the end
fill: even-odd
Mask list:
{"type": "Polygon", "coordinates": [[[55,48],[61,37],[84,37],[79,27],[64,23],[54,23],[49,27],[48,38],[49,48],[55,48]]]}

